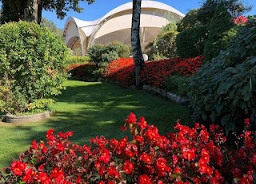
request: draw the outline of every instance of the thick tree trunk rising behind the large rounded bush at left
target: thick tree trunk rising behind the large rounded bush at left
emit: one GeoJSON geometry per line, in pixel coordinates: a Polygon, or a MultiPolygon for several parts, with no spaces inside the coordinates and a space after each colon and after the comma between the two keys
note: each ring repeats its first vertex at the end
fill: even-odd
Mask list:
{"type": "Polygon", "coordinates": [[[27,0],[24,9],[24,21],[38,22],[38,2],[40,0],[27,0]]]}

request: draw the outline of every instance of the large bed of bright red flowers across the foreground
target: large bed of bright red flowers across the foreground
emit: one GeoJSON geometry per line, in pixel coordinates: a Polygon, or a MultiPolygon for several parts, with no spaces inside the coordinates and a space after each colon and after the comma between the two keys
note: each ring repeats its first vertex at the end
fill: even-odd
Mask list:
{"type": "Polygon", "coordinates": [[[132,139],[90,139],[93,146],[70,143],[71,131],[54,135],[50,129],[46,142],[33,141],[30,149],[14,160],[1,183],[255,183],[255,132],[237,135],[238,149],[226,148],[226,137],[218,125],[209,131],[195,123],[193,128],[177,123],[176,132],[159,135],[158,128],[137,121],[131,113],[126,119],[132,139]]]}

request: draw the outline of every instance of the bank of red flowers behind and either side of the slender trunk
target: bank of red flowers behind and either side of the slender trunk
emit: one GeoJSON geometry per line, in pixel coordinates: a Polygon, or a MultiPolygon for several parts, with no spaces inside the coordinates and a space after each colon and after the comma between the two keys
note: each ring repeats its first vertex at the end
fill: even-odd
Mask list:
{"type": "MultiPolygon", "coordinates": [[[[172,74],[190,76],[202,66],[203,57],[188,59],[172,58],[161,61],[146,62],[140,79],[143,84],[161,88],[166,78],[172,74]]],[[[134,84],[134,61],[132,58],[121,58],[110,62],[103,76],[118,81],[125,86],[134,84]]]]}

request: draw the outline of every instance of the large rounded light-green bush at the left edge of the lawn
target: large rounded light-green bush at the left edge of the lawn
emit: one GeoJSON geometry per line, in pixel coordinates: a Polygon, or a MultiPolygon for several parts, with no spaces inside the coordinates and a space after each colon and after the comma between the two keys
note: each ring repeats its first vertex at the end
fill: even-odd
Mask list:
{"type": "Polygon", "coordinates": [[[4,108],[11,113],[47,108],[50,96],[64,88],[65,43],[50,29],[28,22],[1,25],[0,40],[4,108]]]}

